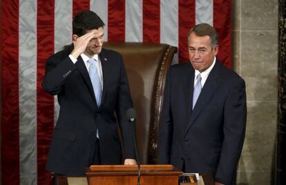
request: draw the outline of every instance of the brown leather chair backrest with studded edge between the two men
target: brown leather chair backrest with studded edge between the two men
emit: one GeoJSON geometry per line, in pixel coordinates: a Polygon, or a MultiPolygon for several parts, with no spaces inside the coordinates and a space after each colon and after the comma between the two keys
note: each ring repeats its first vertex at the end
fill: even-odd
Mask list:
{"type": "Polygon", "coordinates": [[[142,164],[155,163],[166,72],[177,48],[157,43],[104,43],[122,54],[137,113],[136,139],[142,164]]]}

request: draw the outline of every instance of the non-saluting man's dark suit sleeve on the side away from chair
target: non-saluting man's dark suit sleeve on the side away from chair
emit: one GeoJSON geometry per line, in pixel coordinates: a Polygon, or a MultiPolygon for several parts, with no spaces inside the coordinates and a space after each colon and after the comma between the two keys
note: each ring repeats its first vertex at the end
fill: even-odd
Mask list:
{"type": "Polygon", "coordinates": [[[245,139],[247,117],[245,81],[239,79],[230,91],[224,110],[224,141],[215,179],[223,184],[231,184],[245,139]]]}

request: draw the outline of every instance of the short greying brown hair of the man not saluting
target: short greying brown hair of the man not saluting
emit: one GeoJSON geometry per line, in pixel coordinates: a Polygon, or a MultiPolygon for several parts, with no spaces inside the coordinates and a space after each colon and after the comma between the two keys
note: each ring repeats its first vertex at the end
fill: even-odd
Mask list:
{"type": "Polygon", "coordinates": [[[211,48],[213,48],[213,46],[215,45],[218,45],[218,32],[216,32],[216,29],[213,28],[213,26],[210,26],[207,23],[200,23],[194,26],[193,28],[191,28],[191,30],[189,30],[189,33],[188,33],[188,41],[189,41],[191,32],[195,32],[196,35],[199,37],[208,35],[209,39],[211,39],[211,48]]]}

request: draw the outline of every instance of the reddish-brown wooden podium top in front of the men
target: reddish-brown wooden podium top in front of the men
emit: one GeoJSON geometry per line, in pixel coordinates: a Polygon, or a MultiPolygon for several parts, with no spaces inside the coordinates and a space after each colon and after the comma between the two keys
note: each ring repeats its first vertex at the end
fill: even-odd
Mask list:
{"type": "MultiPolygon", "coordinates": [[[[141,165],[141,185],[174,185],[182,171],[172,165],[141,165]]],[[[89,185],[136,185],[137,165],[92,165],[86,168],[89,185]]]]}

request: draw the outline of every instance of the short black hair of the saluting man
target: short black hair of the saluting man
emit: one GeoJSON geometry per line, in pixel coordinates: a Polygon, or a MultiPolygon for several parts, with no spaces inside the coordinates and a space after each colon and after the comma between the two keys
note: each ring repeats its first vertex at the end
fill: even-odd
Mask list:
{"type": "Polygon", "coordinates": [[[84,10],[75,15],[73,19],[73,34],[81,37],[87,30],[94,30],[104,26],[104,22],[93,11],[84,10]]]}

